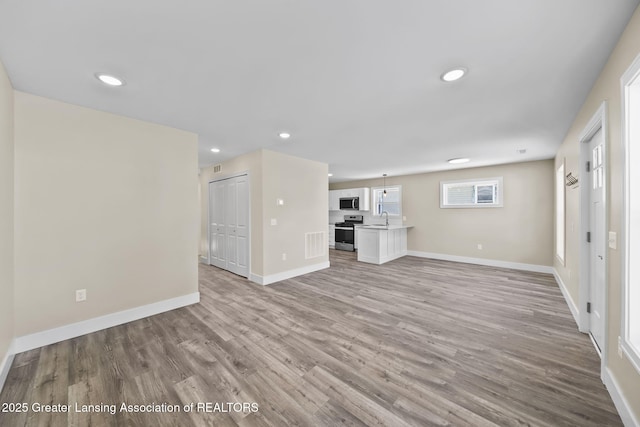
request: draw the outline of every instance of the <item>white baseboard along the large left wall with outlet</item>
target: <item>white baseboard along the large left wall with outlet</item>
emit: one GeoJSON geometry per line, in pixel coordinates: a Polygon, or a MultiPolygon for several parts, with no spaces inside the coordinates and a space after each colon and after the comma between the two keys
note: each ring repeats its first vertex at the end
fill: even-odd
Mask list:
{"type": "Polygon", "coordinates": [[[154,302],[129,310],[118,311],[82,322],[71,323],[58,328],[49,329],[34,334],[24,335],[15,339],[14,353],[33,350],[60,341],[90,334],[102,329],[129,323],[145,317],[175,310],[176,308],[200,302],[200,292],[154,302]]]}

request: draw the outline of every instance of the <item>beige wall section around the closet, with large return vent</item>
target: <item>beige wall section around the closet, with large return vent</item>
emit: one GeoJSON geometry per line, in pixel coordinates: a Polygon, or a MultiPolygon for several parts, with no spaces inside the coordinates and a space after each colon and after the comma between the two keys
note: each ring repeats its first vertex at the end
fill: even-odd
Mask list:
{"type": "Polygon", "coordinates": [[[217,173],[213,166],[201,171],[200,254],[207,255],[208,184],[241,172],[250,175],[253,280],[271,282],[290,272],[328,266],[328,253],[305,259],[304,252],[305,233],[328,229],[328,165],[270,150],[222,162],[217,173]],[[284,205],[278,206],[277,199],[283,199],[284,205]],[[271,225],[271,219],[277,225],[271,225]]]}

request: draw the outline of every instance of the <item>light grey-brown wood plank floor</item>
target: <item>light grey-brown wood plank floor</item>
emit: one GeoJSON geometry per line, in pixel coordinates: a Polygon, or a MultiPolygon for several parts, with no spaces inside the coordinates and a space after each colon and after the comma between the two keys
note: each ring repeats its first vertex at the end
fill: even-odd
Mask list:
{"type": "Polygon", "coordinates": [[[0,402],[118,410],[0,413],[0,425],[622,425],[552,276],[330,256],[330,269],[267,287],[201,266],[200,304],[17,355],[0,402]]]}

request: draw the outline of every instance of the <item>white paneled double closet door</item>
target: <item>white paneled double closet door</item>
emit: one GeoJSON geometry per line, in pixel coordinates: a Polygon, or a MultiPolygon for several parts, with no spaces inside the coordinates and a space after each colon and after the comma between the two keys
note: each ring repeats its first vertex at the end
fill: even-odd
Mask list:
{"type": "Polygon", "coordinates": [[[249,179],[209,183],[209,264],[249,277],[249,179]]]}

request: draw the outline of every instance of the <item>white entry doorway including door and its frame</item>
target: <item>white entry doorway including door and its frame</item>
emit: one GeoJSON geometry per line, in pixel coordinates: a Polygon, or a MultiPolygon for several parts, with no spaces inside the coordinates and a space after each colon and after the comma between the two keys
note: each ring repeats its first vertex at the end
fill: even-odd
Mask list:
{"type": "Polygon", "coordinates": [[[602,358],[607,346],[607,127],[606,102],[580,137],[581,245],[580,330],[587,332],[602,358]]]}

